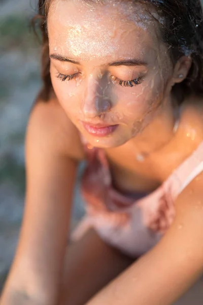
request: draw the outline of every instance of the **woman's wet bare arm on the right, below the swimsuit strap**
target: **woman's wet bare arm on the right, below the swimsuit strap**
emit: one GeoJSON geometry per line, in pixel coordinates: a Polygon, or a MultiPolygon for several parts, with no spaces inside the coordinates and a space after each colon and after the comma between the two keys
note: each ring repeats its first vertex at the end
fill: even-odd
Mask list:
{"type": "Polygon", "coordinates": [[[88,305],[171,305],[203,272],[203,174],[176,202],[174,224],[158,245],[88,305]]]}

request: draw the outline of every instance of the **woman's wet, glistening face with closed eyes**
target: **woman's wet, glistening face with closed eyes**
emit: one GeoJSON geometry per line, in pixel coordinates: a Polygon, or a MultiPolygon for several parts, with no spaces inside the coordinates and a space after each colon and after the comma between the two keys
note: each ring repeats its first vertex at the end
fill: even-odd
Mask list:
{"type": "Polygon", "coordinates": [[[93,146],[122,145],[164,111],[173,68],[143,5],[53,0],[48,35],[58,101],[93,146]]]}

